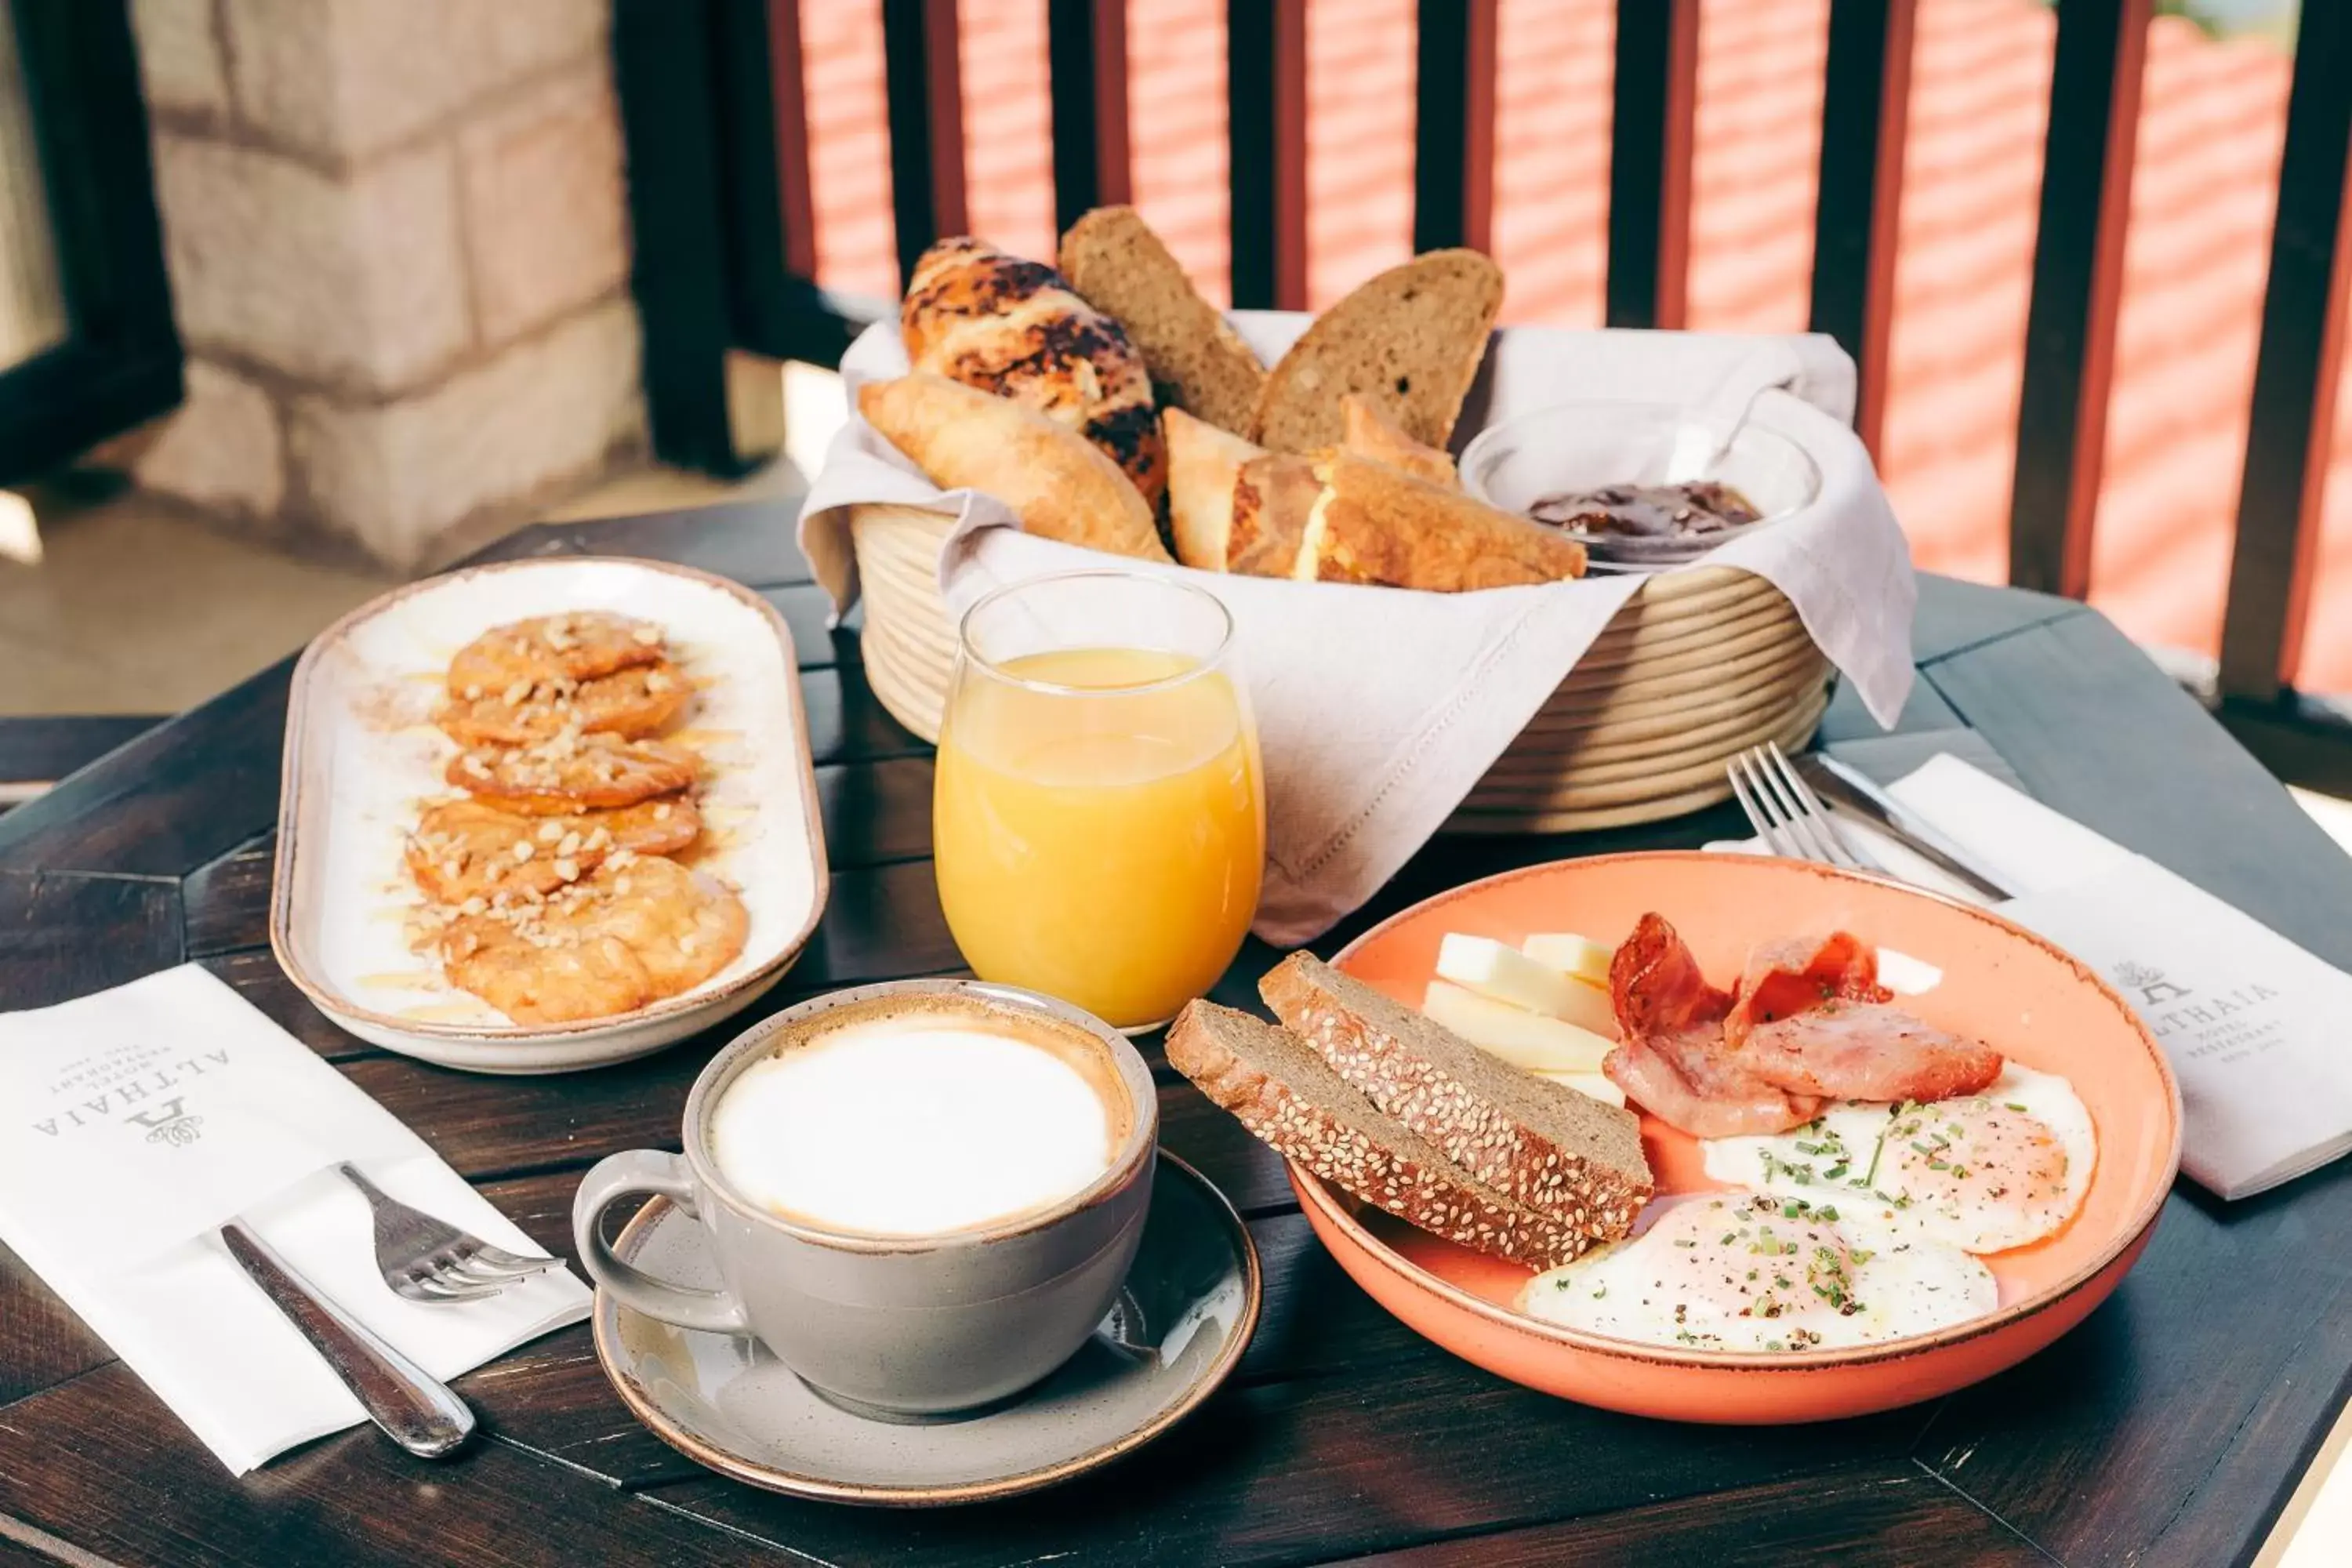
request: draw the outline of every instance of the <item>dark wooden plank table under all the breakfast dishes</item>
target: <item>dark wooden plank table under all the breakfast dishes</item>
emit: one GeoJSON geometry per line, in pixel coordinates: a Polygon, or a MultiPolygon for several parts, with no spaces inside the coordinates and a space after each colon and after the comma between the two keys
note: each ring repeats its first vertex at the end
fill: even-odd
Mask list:
{"type": "MultiPolygon", "coordinates": [[[[623,552],[757,585],[800,646],[833,900],[771,1011],[953,973],[931,886],[929,750],[875,703],[856,637],[776,508],[532,529],[492,555],[623,552]]],[[[2049,804],[2352,966],[2352,863],[2100,616],[1931,581],[1900,726],[1973,726],[2049,804]]],[[[675,1147],[722,1034],[548,1079],[362,1046],[263,931],[287,665],[0,818],[0,1004],[193,959],[348,1072],[541,1244],[583,1166],[675,1147]]],[[[1872,733],[1839,701],[1832,736],[1872,733]]],[[[1439,842],[1362,917],[1505,865],[1738,832],[1726,811],[1576,839],[1439,842]]],[[[1251,999],[1270,952],[1221,987],[1251,999]]],[[[5,1110],[5,1107],[0,1107],[5,1110]]],[[[1162,1067],[1164,1140],[1249,1218],[1265,1321],[1232,1382],[1138,1458],[1035,1497],[896,1514],[696,1469],[607,1389],[588,1331],[459,1387],[487,1441],[447,1465],[372,1427],[233,1481],[0,1251],[0,1568],[68,1563],[2183,1563],[2249,1559],[2345,1401],[2352,1166],[2223,1208],[2178,1190],[2114,1300],[2027,1366],[1870,1420],[1675,1427],[1501,1382],[1425,1345],[1315,1246],[1277,1161],[1162,1067]],[[1835,1554],[1835,1556],[1830,1556],[1835,1554]]]]}

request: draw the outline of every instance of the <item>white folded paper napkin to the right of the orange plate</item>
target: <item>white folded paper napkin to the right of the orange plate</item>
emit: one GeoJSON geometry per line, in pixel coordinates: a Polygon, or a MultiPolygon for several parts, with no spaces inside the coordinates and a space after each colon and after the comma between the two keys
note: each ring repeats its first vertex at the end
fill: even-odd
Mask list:
{"type": "Polygon", "coordinates": [[[1990,903],[2096,969],[2138,1011],[2180,1079],[2180,1168],[2199,1187],[2253,1197],[2352,1152],[2352,1056],[2340,1044],[2352,976],[1957,757],[1933,757],[1886,792],[2020,896],[1985,900],[1842,816],[1879,865],[1990,903]]]}

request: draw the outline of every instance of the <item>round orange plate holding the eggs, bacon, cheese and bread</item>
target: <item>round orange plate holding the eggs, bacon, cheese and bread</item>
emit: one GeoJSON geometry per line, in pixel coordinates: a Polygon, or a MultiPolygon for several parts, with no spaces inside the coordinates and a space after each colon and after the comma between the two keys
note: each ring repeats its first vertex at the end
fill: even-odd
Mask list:
{"type": "MultiPolygon", "coordinates": [[[[1404,1324],[1491,1373],[1611,1410],[1700,1422],[1799,1422],[1933,1399],[2016,1366],[2103,1302],[2147,1248],[2180,1164],[2180,1088],[2131,1009],[2039,936],[1971,905],[1752,856],[1632,853],[1505,872],[1428,898],[1350,943],[1334,964],[1406,1006],[1446,931],[1517,945],[1536,931],[1621,940],[1665,914],[1708,978],[1729,985],[1748,945],[1844,929],[1943,969],[1903,1006],[2039,1072],[2091,1110],[2098,1166],[2082,1208],[2046,1241],[1985,1258],[1999,1309],[1971,1324],[1849,1349],[1700,1352],[1611,1340],[1522,1316],[1531,1272],[1392,1220],[1291,1166],[1315,1234],[1404,1324]]],[[[1642,1143],[1661,1192],[1717,1187],[1693,1138],[1653,1117],[1642,1143]]]]}

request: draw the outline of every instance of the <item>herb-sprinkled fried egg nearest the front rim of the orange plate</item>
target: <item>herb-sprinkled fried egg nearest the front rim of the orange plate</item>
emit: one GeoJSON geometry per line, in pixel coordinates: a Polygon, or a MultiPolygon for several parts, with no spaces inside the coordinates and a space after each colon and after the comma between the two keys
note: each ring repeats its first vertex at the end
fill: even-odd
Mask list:
{"type": "Polygon", "coordinates": [[[1646,1229],[1526,1284],[1548,1324],[1691,1349],[1837,1349],[1931,1333],[1999,1305],[1992,1269],[1837,1204],[1764,1192],[1651,1204],[1646,1229]]]}

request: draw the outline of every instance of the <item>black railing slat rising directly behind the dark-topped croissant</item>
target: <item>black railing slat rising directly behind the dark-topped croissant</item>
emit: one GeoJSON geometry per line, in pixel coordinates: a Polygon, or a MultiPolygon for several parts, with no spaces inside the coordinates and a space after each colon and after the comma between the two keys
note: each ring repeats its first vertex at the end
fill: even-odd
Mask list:
{"type": "Polygon", "coordinates": [[[898,282],[941,235],[964,233],[964,108],[955,0],[882,0],[889,188],[898,282]]]}

